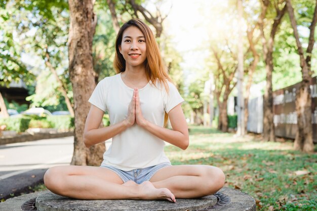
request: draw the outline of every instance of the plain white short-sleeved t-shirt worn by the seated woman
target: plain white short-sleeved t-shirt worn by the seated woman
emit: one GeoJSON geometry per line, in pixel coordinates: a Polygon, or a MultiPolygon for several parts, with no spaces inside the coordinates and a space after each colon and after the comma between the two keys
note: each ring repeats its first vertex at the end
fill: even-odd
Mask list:
{"type": "MultiPolygon", "coordinates": [[[[163,127],[164,113],[169,113],[184,99],[177,88],[168,82],[169,93],[164,85],[162,90],[151,81],[139,89],[140,105],[143,117],[155,125],[163,127]]],[[[108,111],[110,125],[125,120],[133,96],[133,89],[121,78],[121,73],[101,80],[92,93],[89,102],[108,111]]],[[[164,162],[170,162],[164,153],[165,142],[138,126],[136,123],[112,138],[112,144],[103,154],[101,165],[111,165],[123,171],[131,171],[164,162]]]]}

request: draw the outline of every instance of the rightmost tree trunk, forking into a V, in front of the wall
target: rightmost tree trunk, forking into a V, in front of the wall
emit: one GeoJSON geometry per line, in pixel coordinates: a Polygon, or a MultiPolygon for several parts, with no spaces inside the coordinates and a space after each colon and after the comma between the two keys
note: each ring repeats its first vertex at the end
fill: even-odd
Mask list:
{"type": "MultiPolygon", "coordinates": [[[[291,20],[291,25],[294,31],[294,37],[296,39],[297,51],[300,58],[300,66],[302,69],[302,82],[300,84],[299,90],[296,92],[296,113],[297,113],[297,133],[294,142],[294,148],[304,152],[313,152],[314,145],[312,140],[312,124],[311,124],[311,95],[310,95],[310,81],[311,81],[311,71],[310,64],[307,64],[307,61],[310,63],[310,58],[304,56],[304,50],[302,48],[301,42],[299,40],[299,34],[297,31],[297,24],[294,15],[294,9],[290,0],[286,1],[289,17],[291,20]],[[307,60],[308,59],[308,60],[307,60]]],[[[316,7],[313,15],[313,20],[310,25],[310,36],[314,36],[314,29],[317,19],[317,1],[316,7]]],[[[307,55],[310,56],[314,41],[309,40],[307,47],[307,55]],[[310,51],[310,54],[309,54],[310,51]]],[[[308,57],[308,56],[307,56],[308,57]]]]}

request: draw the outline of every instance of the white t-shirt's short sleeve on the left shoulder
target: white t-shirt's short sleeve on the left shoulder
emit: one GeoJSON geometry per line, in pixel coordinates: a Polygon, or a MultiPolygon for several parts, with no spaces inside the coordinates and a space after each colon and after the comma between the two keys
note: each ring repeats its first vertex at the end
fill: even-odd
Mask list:
{"type": "Polygon", "coordinates": [[[107,111],[107,104],[106,104],[106,81],[105,79],[101,80],[95,90],[93,91],[92,95],[89,98],[89,102],[95,107],[101,109],[102,111],[107,111]]]}

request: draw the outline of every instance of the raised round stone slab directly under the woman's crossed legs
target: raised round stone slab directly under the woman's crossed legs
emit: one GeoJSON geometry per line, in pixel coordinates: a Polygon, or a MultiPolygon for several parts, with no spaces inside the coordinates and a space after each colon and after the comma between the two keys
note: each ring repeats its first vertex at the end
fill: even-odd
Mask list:
{"type": "Polygon", "coordinates": [[[176,203],[166,200],[77,200],[56,195],[52,192],[36,198],[37,210],[199,210],[217,203],[214,195],[197,199],[176,199],[176,203]]]}

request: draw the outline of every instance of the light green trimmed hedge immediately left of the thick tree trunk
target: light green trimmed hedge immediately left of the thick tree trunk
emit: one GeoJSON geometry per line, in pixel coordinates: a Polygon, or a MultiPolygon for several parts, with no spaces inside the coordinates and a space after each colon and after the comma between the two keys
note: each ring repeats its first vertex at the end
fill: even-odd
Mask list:
{"type": "Polygon", "coordinates": [[[52,124],[53,128],[59,130],[74,129],[74,118],[69,115],[48,116],[47,120],[52,124]]]}

